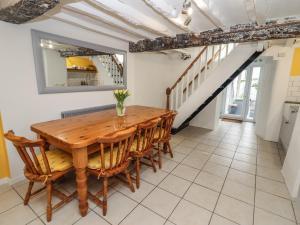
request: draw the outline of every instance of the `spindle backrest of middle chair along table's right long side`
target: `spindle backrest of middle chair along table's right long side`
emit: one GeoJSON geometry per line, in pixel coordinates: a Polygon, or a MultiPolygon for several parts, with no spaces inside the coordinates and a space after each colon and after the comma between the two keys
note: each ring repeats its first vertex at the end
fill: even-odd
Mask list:
{"type": "Polygon", "coordinates": [[[160,120],[158,118],[138,125],[136,142],[134,143],[137,152],[147,152],[152,148],[154,134],[160,120]]]}

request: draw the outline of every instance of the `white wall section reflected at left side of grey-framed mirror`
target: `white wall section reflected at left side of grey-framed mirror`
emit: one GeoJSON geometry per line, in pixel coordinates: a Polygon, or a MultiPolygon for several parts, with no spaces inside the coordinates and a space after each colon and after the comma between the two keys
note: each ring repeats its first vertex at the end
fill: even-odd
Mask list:
{"type": "Polygon", "coordinates": [[[43,61],[47,86],[66,86],[66,59],[61,57],[58,51],[43,48],[43,61]]]}

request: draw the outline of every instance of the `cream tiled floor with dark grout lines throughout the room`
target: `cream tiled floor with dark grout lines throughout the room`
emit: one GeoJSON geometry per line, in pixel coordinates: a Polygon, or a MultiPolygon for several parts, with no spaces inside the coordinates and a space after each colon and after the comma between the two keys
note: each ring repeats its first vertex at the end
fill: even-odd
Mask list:
{"type": "MultiPolygon", "coordinates": [[[[221,122],[216,131],[188,127],[172,146],[174,158],[164,156],[162,170],[143,168],[135,193],[112,182],[106,217],[90,202],[81,218],[74,200],[50,224],[296,225],[296,217],[300,224],[300,205],[290,199],[280,173],[284,154],[276,143],[258,139],[253,124],[221,122]]],[[[89,182],[91,191],[100,188],[96,179],[89,182]]],[[[26,188],[24,182],[0,187],[1,225],[45,223],[45,193],[25,207],[26,188]]],[[[59,188],[70,193],[74,181],[59,188]]]]}

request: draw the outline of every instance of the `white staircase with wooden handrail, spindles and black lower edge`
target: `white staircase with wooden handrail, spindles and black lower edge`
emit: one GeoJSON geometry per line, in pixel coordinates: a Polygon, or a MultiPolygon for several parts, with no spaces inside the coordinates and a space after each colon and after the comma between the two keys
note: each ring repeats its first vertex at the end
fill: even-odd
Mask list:
{"type": "Polygon", "coordinates": [[[189,125],[262,51],[256,44],[204,47],[176,82],[166,90],[167,108],[176,110],[173,133],[189,125]]]}

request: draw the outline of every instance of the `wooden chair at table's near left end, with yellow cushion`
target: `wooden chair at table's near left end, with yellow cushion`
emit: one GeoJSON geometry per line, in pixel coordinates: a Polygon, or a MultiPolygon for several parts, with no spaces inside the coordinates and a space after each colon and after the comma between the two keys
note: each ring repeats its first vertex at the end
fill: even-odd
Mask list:
{"type": "Polygon", "coordinates": [[[13,131],[4,134],[17,149],[25,164],[24,175],[29,180],[29,187],[25,196],[24,205],[27,205],[31,196],[47,189],[47,221],[52,218],[52,211],[68,202],[76,195],[76,192],[67,196],[56,190],[53,183],[65,174],[73,170],[72,157],[63,151],[53,149],[46,151],[45,142],[42,139],[36,141],[24,137],[15,136],[13,131]],[[35,182],[42,182],[45,187],[32,193],[35,182]],[[61,199],[59,203],[52,206],[52,194],[61,199]]]}

